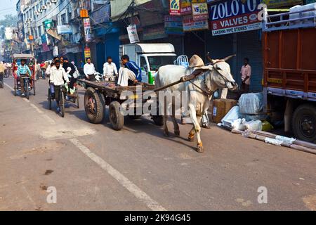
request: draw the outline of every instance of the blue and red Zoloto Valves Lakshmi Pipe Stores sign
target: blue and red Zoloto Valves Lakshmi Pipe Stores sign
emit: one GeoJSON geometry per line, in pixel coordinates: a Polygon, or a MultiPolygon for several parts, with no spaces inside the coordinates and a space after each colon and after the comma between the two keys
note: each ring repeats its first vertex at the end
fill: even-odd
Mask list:
{"type": "Polygon", "coordinates": [[[225,0],[209,4],[213,36],[261,29],[259,4],[260,0],[225,0]]]}

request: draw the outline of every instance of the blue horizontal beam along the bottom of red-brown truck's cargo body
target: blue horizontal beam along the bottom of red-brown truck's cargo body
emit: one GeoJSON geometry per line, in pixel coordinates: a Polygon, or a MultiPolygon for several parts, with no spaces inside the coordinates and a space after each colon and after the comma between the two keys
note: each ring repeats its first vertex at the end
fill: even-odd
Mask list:
{"type": "Polygon", "coordinates": [[[296,91],[289,89],[277,89],[274,87],[268,87],[267,94],[274,96],[284,96],[288,98],[297,98],[308,101],[316,101],[316,93],[314,92],[304,92],[304,91],[296,91]]]}

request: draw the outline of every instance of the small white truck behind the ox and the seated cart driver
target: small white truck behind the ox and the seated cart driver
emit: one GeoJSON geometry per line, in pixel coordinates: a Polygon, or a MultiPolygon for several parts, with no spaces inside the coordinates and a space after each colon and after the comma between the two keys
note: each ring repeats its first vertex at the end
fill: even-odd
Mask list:
{"type": "Polygon", "coordinates": [[[126,44],[119,46],[119,55],[128,55],[142,69],[143,82],[154,84],[154,73],[162,65],[173,64],[176,53],[172,44],[126,44]]]}

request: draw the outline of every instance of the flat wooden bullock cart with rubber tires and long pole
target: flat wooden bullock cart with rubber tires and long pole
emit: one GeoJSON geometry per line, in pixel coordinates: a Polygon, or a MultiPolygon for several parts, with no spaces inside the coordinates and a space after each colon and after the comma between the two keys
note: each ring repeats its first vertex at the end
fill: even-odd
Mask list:
{"type": "MultiPolygon", "coordinates": [[[[138,86],[115,86],[114,82],[90,82],[88,80],[79,79],[79,82],[84,84],[86,88],[84,95],[86,116],[91,123],[99,124],[104,119],[105,107],[109,106],[109,117],[112,128],[119,131],[124,126],[124,113],[122,113],[122,108],[124,108],[126,112],[131,112],[132,110],[134,114],[127,116],[131,119],[138,119],[141,117],[139,112],[143,112],[143,105],[145,103],[149,103],[149,101],[156,101],[158,103],[158,95],[153,99],[150,98],[150,96],[145,96],[147,95],[146,91],[157,93],[170,86],[195,79],[195,77],[201,74],[201,71],[193,72],[191,75],[181,77],[178,82],[157,89],[155,89],[154,85],[145,83],[140,83],[138,86]],[[141,91],[138,91],[139,89],[141,91]],[[129,91],[128,95],[126,91],[129,91]],[[129,101],[129,104],[126,104],[126,101],[129,101]],[[131,105],[133,105],[133,109],[131,109],[131,105]]],[[[157,126],[162,126],[164,124],[163,117],[158,113],[158,106],[154,110],[157,110],[157,115],[151,115],[152,120],[157,126]]],[[[143,115],[143,113],[141,114],[143,115]]]]}

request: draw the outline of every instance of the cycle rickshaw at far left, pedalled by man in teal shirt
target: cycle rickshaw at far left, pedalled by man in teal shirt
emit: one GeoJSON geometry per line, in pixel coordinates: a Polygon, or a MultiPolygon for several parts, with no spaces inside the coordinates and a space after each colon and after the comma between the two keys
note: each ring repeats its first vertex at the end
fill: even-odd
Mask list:
{"type": "MultiPolygon", "coordinates": [[[[21,91],[20,77],[17,75],[18,65],[20,65],[21,60],[25,60],[25,65],[28,65],[29,70],[31,70],[31,75],[22,77],[24,85],[25,96],[29,99],[30,91],[36,94],[35,91],[35,63],[36,60],[32,54],[14,54],[13,55],[13,77],[14,77],[14,96],[17,96],[18,91],[21,91]]],[[[22,93],[20,94],[22,96],[22,93]]]]}

